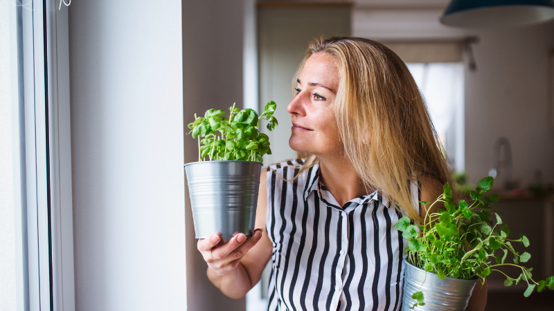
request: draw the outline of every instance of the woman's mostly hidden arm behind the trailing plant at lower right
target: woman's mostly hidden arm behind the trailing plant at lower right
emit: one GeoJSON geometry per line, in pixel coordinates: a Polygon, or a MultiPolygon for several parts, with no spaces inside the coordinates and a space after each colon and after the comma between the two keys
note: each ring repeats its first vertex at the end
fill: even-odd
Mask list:
{"type": "MultiPolygon", "coordinates": [[[[435,200],[443,193],[443,185],[436,179],[423,178],[421,182],[421,200],[425,202],[435,202],[435,200]]],[[[430,213],[434,213],[440,207],[445,209],[444,205],[438,202],[434,205],[433,210],[430,213]]],[[[420,215],[425,216],[425,206],[420,205],[420,215]]],[[[485,305],[487,305],[487,283],[481,288],[481,281],[477,281],[475,288],[473,289],[470,302],[467,305],[466,311],[483,311],[485,305]]]]}

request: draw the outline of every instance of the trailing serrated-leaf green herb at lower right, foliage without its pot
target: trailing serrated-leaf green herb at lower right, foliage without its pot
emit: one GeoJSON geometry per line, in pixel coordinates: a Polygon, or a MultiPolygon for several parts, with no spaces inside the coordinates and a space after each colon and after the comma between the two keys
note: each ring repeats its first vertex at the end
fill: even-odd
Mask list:
{"type": "MultiPolygon", "coordinates": [[[[546,280],[532,279],[531,270],[520,263],[526,263],[531,255],[528,252],[519,254],[512,243],[529,246],[529,240],[523,234],[510,239],[510,228],[502,222],[498,211],[491,210],[491,203],[498,202],[497,194],[485,195],[492,188],[494,180],[485,177],[479,181],[475,190],[470,191],[473,202],[465,200],[454,202],[452,189],[446,183],[443,194],[433,203],[420,201],[426,208],[424,223],[413,225],[408,217],[398,220],[396,227],[402,236],[409,241],[406,261],[427,272],[438,275],[440,279],[447,276],[454,279],[472,279],[479,276],[481,282],[496,271],[506,276],[505,286],[524,281],[528,284],[524,296],[529,296],[535,288],[542,292],[545,287],[554,290],[554,276],[546,280]],[[433,206],[443,202],[445,209],[433,210],[433,206]],[[511,258],[512,262],[509,262],[511,258]],[[512,278],[499,270],[502,266],[515,266],[521,270],[517,278],[512,278]]],[[[412,296],[416,305],[425,305],[422,292],[412,296]]]]}

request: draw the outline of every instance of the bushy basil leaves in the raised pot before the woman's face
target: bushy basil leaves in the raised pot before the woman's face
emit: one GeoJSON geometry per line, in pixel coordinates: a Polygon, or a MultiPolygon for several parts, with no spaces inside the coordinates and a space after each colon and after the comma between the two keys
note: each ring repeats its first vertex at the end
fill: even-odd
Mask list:
{"type": "Polygon", "coordinates": [[[229,118],[222,110],[210,109],[204,117],[197,117],[188,124],[187,133],[198,138],[198,161],[208,160],[244,160],[262,162],[262,156],[271,154],[269,137],[258,131],[259,120],[267,120],[267,129],[277,128],[277,119],[273,116],[275,102],[265,105],[262,115],[253,109],[229,108],[229,118]]]}

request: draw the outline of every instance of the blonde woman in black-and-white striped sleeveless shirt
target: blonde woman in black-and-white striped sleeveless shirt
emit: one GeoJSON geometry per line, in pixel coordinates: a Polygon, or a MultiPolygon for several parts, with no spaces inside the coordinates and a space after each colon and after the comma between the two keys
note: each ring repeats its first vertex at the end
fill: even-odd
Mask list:
{"type": "MultiPolygon", "coordinates": [[[[240,298],[271,260],[269,310],[400,310],[407,241],[419,200],[449,181],[408,68],[375,41],[333,37],[308,49],[295,77],[289,145],[297,160],[262,173],[251,238],[200,240],[208,278],[240,298]]],[[[484,310],[476,286],[468,310],[484,310]]]]}

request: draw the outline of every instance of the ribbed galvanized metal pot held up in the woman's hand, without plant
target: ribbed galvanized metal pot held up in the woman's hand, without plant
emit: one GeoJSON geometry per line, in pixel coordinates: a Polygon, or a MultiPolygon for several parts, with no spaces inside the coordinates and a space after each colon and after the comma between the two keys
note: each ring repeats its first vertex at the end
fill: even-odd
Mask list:
{"type": "Polygon", "coordinates": [[[219,232],[251,236],[256,220],[262,164],[204,161],[185,164],[196,238],[219,232]]]}

